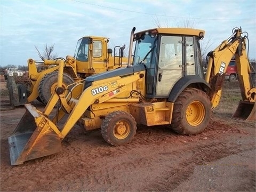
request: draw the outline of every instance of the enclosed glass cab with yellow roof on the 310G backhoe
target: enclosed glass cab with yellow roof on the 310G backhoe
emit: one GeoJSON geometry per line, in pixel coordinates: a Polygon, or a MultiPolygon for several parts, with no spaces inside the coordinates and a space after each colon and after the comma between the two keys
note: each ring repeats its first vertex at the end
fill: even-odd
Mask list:
{"type": "Polygon", "coordinates": [[[204,78],[200,31],[196,32],[159,28],[134,35],[133,65],[146,66],[146,97],[168,98],[173,86],[182,78],[187,76],[188,81],[204,78]]]}

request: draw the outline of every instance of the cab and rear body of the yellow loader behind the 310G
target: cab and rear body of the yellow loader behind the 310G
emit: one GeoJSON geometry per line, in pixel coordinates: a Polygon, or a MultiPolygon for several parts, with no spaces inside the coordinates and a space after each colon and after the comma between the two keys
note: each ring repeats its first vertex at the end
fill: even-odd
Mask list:
{"type": "Polygon", "coordinates": [[[87,76],[102,73],[122,67],[127,58],[123,58],[125,46],[108,49],[109,38],[107,37],[83,37],[78,40],[74,58],[76,60],[77,73],[85,78],[87,76]]]}

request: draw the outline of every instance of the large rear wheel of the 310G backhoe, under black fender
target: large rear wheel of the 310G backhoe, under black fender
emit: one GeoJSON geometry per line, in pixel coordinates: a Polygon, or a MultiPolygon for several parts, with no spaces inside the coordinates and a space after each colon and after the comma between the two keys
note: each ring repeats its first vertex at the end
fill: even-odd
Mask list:
{"type": "Polygon", "coordinates": [[[201,133],[209,124],[210,119],[210,98],[201,90],[187,88],[174,102],[171,127],[179,134],[201,133]]]}

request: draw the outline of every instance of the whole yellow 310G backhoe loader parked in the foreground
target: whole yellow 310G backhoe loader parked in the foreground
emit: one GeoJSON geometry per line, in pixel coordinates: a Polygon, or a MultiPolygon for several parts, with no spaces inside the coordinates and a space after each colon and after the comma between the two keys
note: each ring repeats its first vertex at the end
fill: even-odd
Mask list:
{"type": "Polygon", "coordinates": [[[63,88],[63,69],[68,61],[56,60],[55,93],[43,111],[26,104],[25,115],[9,137],[12,165],[57,153],[76,123],[85,130],[101,129],[103,139],[113,146],[131,142],[138,124],[169,125],[186,135],[201,133],[210,122],[212,108],[219,103],[225,70],[233,55],[242,100],[254,106],[249,109],[243,103],[243,108],[251,110],[249,116],[255,119],[255,87],[248,76],[246,36],[241,29],[235,28],[230,38],[209,53],[205,78],[199,44],[204,30],[134,31],[125,68],[92,75],[63,88]]]}

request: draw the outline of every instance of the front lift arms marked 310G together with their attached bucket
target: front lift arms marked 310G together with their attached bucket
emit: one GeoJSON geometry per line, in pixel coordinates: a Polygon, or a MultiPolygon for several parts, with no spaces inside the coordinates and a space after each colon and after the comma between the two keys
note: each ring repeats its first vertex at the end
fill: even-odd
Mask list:
{"type": "MultiPolygon", "coordinates": [[[[65,95],[61,86],[64,65],[63,60],[59,60],[58,87],[56,92],[52,95],[50,102],[47,103],[44,112],[37,110],[30,103],[25,104],[26,114],[22,117],[21,122],[14,130],[12,136],[9,137],[12,165],[23,164],[23,162],[30,159],[58,153],[61,150],[61,141],[63,138],[66,137],[78,119],[92,103],[102,103],[106,100],[110,100],[118,94],[127,91],[127,85],[144,77],[140,71],[137,71],[125,77],[116,76],[109,78],[108,81],[102,80],[100,83],[96,82],[95,85],[93,84],[87,87],[79,97],[79,100],[75,101],[74,98],[69,98],[71,96],[74,97],[74,95],[65,95]],[[109,86],[110,84],[117,86],[109,86]],[[50,119],[49,115],[52,113],[54,106],[59,100],[69,101],[66,103],[68,104],[68,108],[65,108],[65,105],[63,105],[65,109],[60,109],[60,111],[57,109],[57,115],[53,117],[53,119],[50,119]],[[83,103],[83,105],[81,105],[81,103],[83,103]],[[57,121],[56,119],[63,117],[63,111],[68,111],[69,106],[73,106],[74,108],[71,110],[65,125],[59,127],[58,124],[55,123],[57,121]],[[61,115],[57,117],[59,112],[61,115]],[[35,121],[34,126],[29,126],[29,130],[24,129],[25,124],[28,124],[30,121],[32,122],[33,118],[35,121]],[[19,140],[19,142],[17,142],[17,140],[19,140]]],[[[144,69],[141,68],[141,66],[137,67],[142,70],[144,69]]],[[[118,69],[116,70],[118,71],[118,69]]],[[[133,68],[127,68],[127,70],[134,71],[133,68]]],[[[134,98],[133,102],[139,102],[139,98],[134,98]]],[[[65,104],[65,102],[63,104],[65,104]]]]}

